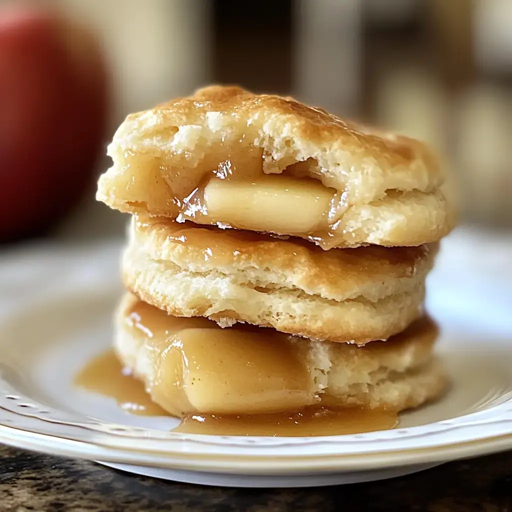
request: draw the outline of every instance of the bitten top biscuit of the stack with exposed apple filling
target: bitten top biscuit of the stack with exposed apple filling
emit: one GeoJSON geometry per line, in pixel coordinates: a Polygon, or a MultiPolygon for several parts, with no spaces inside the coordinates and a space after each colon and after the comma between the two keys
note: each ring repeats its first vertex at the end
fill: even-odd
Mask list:
{"type": "Polygon", "coordinates": [[[211,86],[129,115],[97,199],[113,208],[308,239],[417,246],[450,231],[423,143],[292,98],[211,86]]]}

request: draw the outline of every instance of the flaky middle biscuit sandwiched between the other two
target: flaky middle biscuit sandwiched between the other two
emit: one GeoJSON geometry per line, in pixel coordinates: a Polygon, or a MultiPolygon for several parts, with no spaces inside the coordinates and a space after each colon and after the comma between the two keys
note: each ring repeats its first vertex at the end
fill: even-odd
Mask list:
{"type": "Polygon", "coordinates": [[[324,251],[308,242],[134,217],[123,281],[176,316],[358,345],[422,314],[437,244],[324,251]]]}

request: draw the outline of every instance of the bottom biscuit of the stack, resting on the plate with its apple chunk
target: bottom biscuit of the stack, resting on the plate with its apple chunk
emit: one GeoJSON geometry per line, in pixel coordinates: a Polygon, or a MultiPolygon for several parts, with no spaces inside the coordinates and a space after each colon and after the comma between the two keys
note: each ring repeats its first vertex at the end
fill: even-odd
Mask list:
{"type": "Polygon", "coordinates": [[[177,416],[293,411],[315,403],[400,411],[437,397],[446,385],[432,355],[437,328],[426,317],[387,342],[354,347],[258,327],[220,329],[127,294],[115,329],[121,361],[177,416]]]}

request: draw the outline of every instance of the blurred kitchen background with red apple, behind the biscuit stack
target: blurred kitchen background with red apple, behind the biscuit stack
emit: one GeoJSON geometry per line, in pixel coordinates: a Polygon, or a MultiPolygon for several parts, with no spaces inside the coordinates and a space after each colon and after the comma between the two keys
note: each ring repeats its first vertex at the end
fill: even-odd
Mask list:
{"type": "Polygon", "coordinates": [[[122,236],[94,201],[126,114],[210,82],[417,137],[461,218],[512,227],[510,0],[0,0],[0,240],[122,236]],[[3,219],[3,220],[2,220],[3,219]]]}

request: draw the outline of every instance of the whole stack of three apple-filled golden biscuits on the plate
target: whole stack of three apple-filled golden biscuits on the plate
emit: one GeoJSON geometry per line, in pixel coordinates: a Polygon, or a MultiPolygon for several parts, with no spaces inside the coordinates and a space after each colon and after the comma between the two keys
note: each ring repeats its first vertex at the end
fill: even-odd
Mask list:
{"type": "Polygon", "coordinates": [[[97,198],[132,214],[115,347],[171,414],[438,396],[425,277],[453,218],[418,141],[208,87],[130,115],[97,198]]]}

